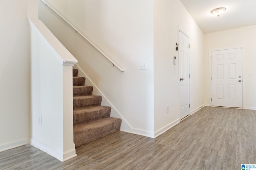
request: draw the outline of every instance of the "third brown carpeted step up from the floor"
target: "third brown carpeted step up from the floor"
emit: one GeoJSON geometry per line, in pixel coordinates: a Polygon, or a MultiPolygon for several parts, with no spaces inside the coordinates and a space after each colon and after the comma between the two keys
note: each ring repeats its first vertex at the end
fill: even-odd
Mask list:
{"type": "Polygon", "coordinates": [[[101,96],[74,96],[73,97],[73,109],[80,107],[100,106],[101,96]]]}

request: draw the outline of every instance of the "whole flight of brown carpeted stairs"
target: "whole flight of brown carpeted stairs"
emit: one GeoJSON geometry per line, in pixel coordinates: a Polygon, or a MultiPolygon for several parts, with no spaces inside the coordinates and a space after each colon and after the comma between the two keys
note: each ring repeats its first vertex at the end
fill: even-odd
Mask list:
{"type": "Polygon", "coordinates": [[[101,96],[92,95],[92,86],[73,69],[73,118],[76,147],[120,130],[121,119],[110,117],[111,107],[101,106],[101,96]]]}

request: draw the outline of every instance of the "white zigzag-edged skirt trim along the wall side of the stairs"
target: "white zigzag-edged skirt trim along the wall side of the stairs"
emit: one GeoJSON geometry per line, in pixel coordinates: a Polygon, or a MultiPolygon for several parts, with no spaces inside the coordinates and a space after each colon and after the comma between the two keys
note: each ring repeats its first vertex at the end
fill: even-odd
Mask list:
{"type": "MultiPolygon", "coordinates": [[[[89,78],[89,77],[85,74],[85,72],[78,66],[78,64],[75,64],[73,68],[78,69],[78,74],[83,74],[82,76],[84,76],[84,77],[86,78],[86,84],[88,84],[88,85],[90,85],[90,86],[93,86],[93,91],[94,91],[94,93],[96,92],[97,95],[102,96],[102,105],[112,107],[112,109],[111,109],[111,115],[114,115],[114,117],[117,117],[117,118],[122,119],[120,131],[132,133],[132,127],[130,126],[130,124],[126,121],[126,119],[124,119],[124,117],[122,117],[122,115],[120,114],[120,112],[112,105],[112,103],[106,98],[106,96],[104,96],[104,94],[103,94],[103,93],[99,90],[99,88],[90,80],[90,78],[89,78]]],[[[144,136],[146,136],[146,135],[144,135],[144,136]]]]}

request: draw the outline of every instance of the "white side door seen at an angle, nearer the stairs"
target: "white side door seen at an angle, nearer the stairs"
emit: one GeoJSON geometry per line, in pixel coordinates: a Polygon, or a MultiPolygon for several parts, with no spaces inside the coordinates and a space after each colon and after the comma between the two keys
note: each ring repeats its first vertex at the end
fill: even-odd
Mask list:
{"type": "Polygon", "coordinates": [[[180,119],[190,114],[189,37],[179,30],[180,119]]]}

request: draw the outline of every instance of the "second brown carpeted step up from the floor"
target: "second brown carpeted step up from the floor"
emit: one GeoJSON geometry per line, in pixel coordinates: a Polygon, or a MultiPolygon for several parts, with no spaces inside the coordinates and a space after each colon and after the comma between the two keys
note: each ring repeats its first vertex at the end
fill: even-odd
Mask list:
{"type": "Polygon", "coordinates": [[[74,125],[79,125],[81,123],[88,123],[90,121],[95,121],[97,119],[110,117],[110,111],[111,107],[109,106],[93,106],[75,109],[73,111],[74,125]]]}

